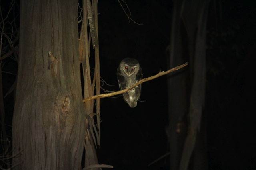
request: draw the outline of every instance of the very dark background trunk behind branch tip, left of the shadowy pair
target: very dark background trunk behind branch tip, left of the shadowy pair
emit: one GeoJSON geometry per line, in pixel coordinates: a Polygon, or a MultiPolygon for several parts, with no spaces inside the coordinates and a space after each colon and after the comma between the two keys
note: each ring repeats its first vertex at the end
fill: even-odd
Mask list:
{"type": "MultiPolygon", "coordinates": [[[[172,13],[172,31],[170,42],[170,68],[184,64],[184,27],[180,19],[182,8],[181,0],[174,0],[172,13]],[[183,29],[182,29],[183,28],[183,29]]],[[[188,112],[188,100],[186,91],[186,72],[174,74],[168,79],[168,112],[170,141],[170,169],[177,170],[186,135],[184,127],[184,115],[188,112]]]]}

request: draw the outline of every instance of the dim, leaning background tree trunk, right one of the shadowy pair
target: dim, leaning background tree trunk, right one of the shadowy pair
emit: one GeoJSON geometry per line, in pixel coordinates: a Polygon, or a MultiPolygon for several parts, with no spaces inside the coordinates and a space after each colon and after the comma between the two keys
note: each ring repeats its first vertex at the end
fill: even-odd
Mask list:
{"type": "MultiPolygon", "coordinates": [[[[205,102],[205,80],[206,80],[206,23],[208,16],[208,6],[209,0],[197,0],[197,5],[184,3],[184,18],[189,18],[191,14],[186,13],[186,11],[193,11],[194,17],[184,23],[187,28],[188,39],[190,41],[190,61],[192,68],[190,71],[191,77],[191,94],[190,94],[190,107],[189,107],[189,128],[188,135],[184,143],[184,149],[182,152],[182,158],[180,161],[180,170],[187,170],[194,151],[194,162],[192,167],[196,170],[207,170],[207,158],[206,150],[203,147],[203,144],[206,144],[205,129],[201,127],[202,112],[204,111],[204,102],[205,102]],[[187,8],[186,8],[187,7],[187,8]],[[194,22],[193,22],[194,21],[194,22]],[[189,24],[197,23],[197,24],[189,24]],[[188,30],[196,30],[196,36],[194,32],[188,30]],[[194,43],[192,43],[194,42],[194,43]],[[193,45],[194,44],[194,45],[193,45]],[[194,51],[194,54],[193,54],[194,51]],[[198,147],[198,145],[202,147],[198,147]],[[195,145],[197,146],[195,148],[195,145]]],[[[203,126],[206,128],[205,126],[203,126]]]]}

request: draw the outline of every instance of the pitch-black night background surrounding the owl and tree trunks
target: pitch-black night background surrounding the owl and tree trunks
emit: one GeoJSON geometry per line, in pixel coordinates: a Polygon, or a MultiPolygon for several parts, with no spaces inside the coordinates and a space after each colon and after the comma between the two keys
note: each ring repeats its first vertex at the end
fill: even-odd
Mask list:
{"type": "MultiPolygon", "coordinates": [[[[172,1],[126,0],[131,18],[117,0],[98,1],[101,77],[106,90],[118,90],[116,68],[125,57],[138,59],[143,76],[169,68],[166,48],[170,43],[172,1]]],[[[256,1],[222,1],[222,20],[216,20],[213,0],[208,17],[206,106],[209,169],[256,169],[256,105],[254,61],[256,54],[256,1]]],[[[219,2],[219,1],[217,1],[219,2]]],[[[2,3],[2,2],[1,2],[2,3]]],[[[123,4],[125,7],[125,5],[123,4]]],[[[218,12],[218,11],[217,11],[218,12]]],[[[16,72],[6,59],[3,70],[16,72]]],[[[167,78],[146,82],[135,108],[122,96],[101,100],[101,164],[115,169],[147,169],[147,164],[169,152],[167,78]],[[134,168],[135,167],[135,168],[134,168]]],[[[4,94],[15,76],[3,74],[4,94]]],[[[102,92],[103,93],[103,92],[102,92]]],[[[11,124],[13,98],[6,97],[6,123],[11,124]]],[[[8,134],[11,134],[9,127],[8,134]]],[[[166,157],[148,169],[168,168],[166,157]]]]}

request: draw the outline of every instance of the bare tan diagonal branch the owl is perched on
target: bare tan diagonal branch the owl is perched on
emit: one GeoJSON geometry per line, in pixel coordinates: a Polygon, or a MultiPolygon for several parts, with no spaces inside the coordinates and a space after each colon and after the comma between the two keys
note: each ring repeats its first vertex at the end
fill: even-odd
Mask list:
{"type": "Polygon", "coordinates": [[[153,80],[155,78],[158,78],[160,76],[163,76],[165,74],[169,74],[171,72],[174,72],[176,70],[179,70],[180,68],[183,68],[185,66],[188,65],[188,62],[186,62],[185,64],[182,64],[180,66],[176,66],[168,71],[162,71],[162,72],[159,72],[158,74],[154,75],[154,76],[151,76],[151,77],[147,77],[147,78],[143,78],[142,80],[138,81],[136,84],[132,85],[130,88],[126,88],[124,90],[120,90],[120,91],[116,91],[116,92],[112,92],[112,93],[106,93],[106,94],[99,94],[99,95],[95,95],[95,96],[90,96],[88,98],[85,98],[83,100],[83,102],[86,102],[88,100],[93,100],[93,99],[96,99],[96,98],[107,98],[107,97],[110,97],[110,96],[115,96],[115,95],[118,95],[118,94],[122,94],[124,92],[128,92],[130,90],[132,90],[134,87],[138,86],[139,84],[142,84],[144,82],[147,82],[149,80],[153,80]]]}

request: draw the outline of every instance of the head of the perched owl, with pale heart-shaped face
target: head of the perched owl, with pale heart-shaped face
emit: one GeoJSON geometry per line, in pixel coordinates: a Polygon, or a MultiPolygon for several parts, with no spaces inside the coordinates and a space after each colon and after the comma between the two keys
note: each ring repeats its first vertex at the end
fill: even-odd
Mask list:
{"type": "Polygon", "coordinates": [[[127,76],[136,75],[140,70],[140,64],[134,58],[124,58],[120,62],[119,67],[127,76]]]}

